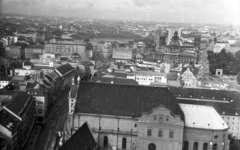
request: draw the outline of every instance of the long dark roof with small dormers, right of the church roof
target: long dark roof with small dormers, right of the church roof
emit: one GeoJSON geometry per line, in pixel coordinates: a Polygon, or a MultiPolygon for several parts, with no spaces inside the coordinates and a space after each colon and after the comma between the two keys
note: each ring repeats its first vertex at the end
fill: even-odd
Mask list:
{"type": "Polygon", "coordinates": [[[179,103],[213,106],[219,114],[240,115],[240,93],[235,91],[175,88],[179,103]]]}

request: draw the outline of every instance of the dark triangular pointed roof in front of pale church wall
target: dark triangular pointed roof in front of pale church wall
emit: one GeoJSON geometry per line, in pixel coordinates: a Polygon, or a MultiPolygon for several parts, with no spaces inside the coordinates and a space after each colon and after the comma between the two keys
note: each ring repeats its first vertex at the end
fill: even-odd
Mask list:
{"type": "Polygon", "coordinates": [[[93,134],[85,122],[60,150],[92,150],[97,145],[93,134]]]}

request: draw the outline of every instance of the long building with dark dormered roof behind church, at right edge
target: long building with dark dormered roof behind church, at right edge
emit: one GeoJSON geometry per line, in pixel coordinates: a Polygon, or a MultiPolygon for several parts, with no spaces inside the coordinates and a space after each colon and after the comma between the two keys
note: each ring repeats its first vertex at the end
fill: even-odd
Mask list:
{"type": "Polygon", "coordinates": [[[197,88],[174,88],[170,90],[180,104],[212,106],[229,126],[228,133],[240,139],[240,94],[235,91],[208,90],[197,88]]]}

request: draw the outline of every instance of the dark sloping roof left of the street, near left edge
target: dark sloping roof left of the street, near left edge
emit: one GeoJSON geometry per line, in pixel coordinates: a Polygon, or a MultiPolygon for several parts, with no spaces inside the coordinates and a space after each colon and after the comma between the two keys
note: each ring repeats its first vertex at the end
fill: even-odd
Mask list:
{"type": "Polygon", "coordinates": [[[22,117],[26,107],[31,103],[32,97],[25,92],[19,91],[14,97],[12,102],[6,106],[7,109],[22,117]]]}

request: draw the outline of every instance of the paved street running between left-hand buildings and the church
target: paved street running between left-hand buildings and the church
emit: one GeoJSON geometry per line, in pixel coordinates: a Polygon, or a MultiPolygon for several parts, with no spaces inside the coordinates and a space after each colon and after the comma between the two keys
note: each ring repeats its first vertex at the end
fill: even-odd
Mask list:
{"type": "Polygon", "coordinates": [[[67,119],[68,111],[68,93],[64,93],[62,99],[52,108],[52,114],[47,118],[47,123],[39,135],[34,150],[48,150],[51,147],[53,139],[56,139],[57,131],[63,131],[64,123],[67,119]]]}

